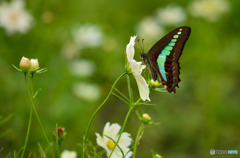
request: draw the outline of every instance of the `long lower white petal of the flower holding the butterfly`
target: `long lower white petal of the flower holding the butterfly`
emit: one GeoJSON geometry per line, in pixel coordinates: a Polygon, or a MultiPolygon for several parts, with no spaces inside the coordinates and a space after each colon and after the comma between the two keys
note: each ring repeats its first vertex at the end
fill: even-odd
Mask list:
{"type": "Polygon", "coordinates": [[[149,92],[149,88],[146,80],[141,75],[135,76],[135,79],[137,81],[140,97],[142,98],[142,100],[150,101],[150,98],[149,98],[150,92],[149,92]]]}

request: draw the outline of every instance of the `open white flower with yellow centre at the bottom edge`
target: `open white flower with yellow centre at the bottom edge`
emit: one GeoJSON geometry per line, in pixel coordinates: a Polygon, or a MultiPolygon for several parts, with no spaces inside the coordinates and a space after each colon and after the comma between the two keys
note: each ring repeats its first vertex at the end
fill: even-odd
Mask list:
{"type": "MultiPolygon", "coordinates": [[[[119,135],[119,131],[121,129],[121,126],[117,123],[113,123],[110,125],[109,122],[106,123],[104,129],[103,129],[103,136],[96,133],[97,136],[97,144],[101,147],[103,147],[107,151],[107,156],[110,155],[112,152],[112,149],[115,146],[115,143],[107,138],[106,136],[112,138],[115,142],[117,141],[119,135]],[[106,136],[104,136],[106,135],[106,136]]],[[[119,139],[118,145],[123,150],[124,155],[129,151],[129,146],[131,145],[132,139],[130,138],[130,134],[127,132],[123,132],[121,135],[121,138],[119,139]]],[[[129,158],[132,156],[132,151],[130,151],[125,158],[129,158]]],[[[120,149],[116,146],[114,149],[111,158],[122,158],[122,152],[120,149]]]]}

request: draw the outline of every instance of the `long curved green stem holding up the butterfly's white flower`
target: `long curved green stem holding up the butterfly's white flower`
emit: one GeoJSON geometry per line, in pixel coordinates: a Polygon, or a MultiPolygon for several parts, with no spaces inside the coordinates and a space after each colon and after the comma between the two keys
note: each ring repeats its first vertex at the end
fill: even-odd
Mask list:
{"type": "Polygon", "coordinates": [[[101,109],[101,107],[105,104],[105,102],[108,100],[108,98],[110,97],[110,95],[112,94],[112,91],[114,89],[114,86],[116,85],[116,83],[118,82],[118,80],[123,77],[124,75],[126,74],[126,72],[124,72],[121,76],[119,76],[116,81],[113,83],[112,85],[112,88],[110,90],[110,92],[108,93],[108,96],[107,98],[102,102],[102,104],[97,108],[97,110],[94,112],[94,114],[92,115],[90,121],[89,121],[89,124],[88,124],[88,127],[87,127],[87,131],[86,131],[86,135],[83,139],[83,151],[82,151],[82,157],[84,158],[84,153],[85,153],[85,144],[86,144],[86,141],[87,141],[87,137],[88,137],[88,133],[89,133],[89,129],[90,129],[90,126],[92,124],[92,121],[95,117],[95,115],[97,114],[97,112],[101,109]]]}

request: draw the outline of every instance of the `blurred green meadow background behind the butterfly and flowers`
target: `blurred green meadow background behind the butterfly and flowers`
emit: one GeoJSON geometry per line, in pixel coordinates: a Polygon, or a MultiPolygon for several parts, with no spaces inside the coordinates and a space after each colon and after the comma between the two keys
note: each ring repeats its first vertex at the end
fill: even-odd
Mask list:
{"type": "MultiPolygon", "coordinates": [[[[210,11],[205,17],[194,14],[194,2],[26,0],[25,9],[33,19],[31,27],[24,34],[9,34],[6,28],[0,28],[0,118],[14,114],[0,126],[0,134],[7,133],[0,137],[0,148],[4,147],[0,157],[19,150],[25,141],[30,99],[23,74],[12,66],[18,66],[22,56],[38,58],[40,67],[48,68],[47,73],[34,78],[34,89],[42,88],[35,106],[48,138],[53,141],[56,123],[65,127],[67,136],[61,149],[75,150],[80,157],[78,144],[91,115],[124,72],[124,53],[130,36],[144,38],[147,52],[164,34],[183,25],[191,27],[192,32],[179,60],[180,88],[176,94],[151,91],[151,103],[156,106],[135,109],[161,122],[158,126],[146,126],[137,157],[152,157],[151,150],[166,158],[211,157],[210,149],[240,151],[240,1],[216,0],[215,3],[228,7],[221,13],[219,7],[214,10],[214,6],[206,5],[205,10],[200,10],[200,14],[210,11]],[[168,6],[180,8],[183,20],[169,24],[161,21],[158,14],[168,6]],[[157,24],[157,39],[154,33],[145,37],[141,30],[146,17],[157,24]],[[89,31],[93,30],[93,35],[84,38],[81,33],[87,31],[77,31],[83,27],[93,27],[89,31]],[[83,39],[77,39],[79,36],[83,39]]],[[[137,44],[135,48],[138,59],[141,49],[137,44]]],[[[138,89],[135,80],[131,81],[137,99],[138,89]]],[[[116,87],[127,95],[126,77],[116,87]]],[[[135,110],[125,128],[134,139],[141,125],[135,110]]],[[[122,125],[127,111],[128,106],[112,95],[90,128],[93,144],[96,145],[95,132],[102,133],[106,122],[122,125]]],[[[33,114],[26,153],[33,151],[38,155],[38,142],[47,148],[33,114]]]]}

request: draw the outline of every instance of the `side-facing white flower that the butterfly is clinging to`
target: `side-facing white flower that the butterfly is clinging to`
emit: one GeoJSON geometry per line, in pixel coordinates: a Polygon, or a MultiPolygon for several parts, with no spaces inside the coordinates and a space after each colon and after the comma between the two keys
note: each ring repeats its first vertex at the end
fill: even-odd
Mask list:
{"type": "Polygon", "coordinates": [[[131,69],[131,72],[133,73],[137,85],[138,85],[138,90],[140,93],[140,97],[142,98],[143,101],[149,100],[149,88],[146,80],[143,78],[141,75],[142,70],[146,67],[145,65],[142,65],[142,62],[137,62],[136,60],[133,59],[134,57],[134,45],[135,45],[135,39],[137,36],[133,36],[130,39],[129,44],[126,47],[126,52],[127,52],[127,59],[128,59],[128,66],[131,69]]]}

